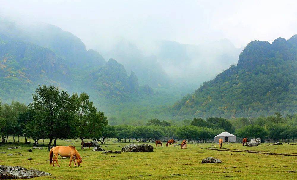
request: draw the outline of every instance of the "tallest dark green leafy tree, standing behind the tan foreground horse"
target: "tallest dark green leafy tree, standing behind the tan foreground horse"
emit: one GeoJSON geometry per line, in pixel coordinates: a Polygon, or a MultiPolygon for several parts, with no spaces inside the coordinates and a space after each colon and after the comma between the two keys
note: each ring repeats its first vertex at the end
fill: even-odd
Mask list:
{"type": "Polygon", "coordinates": [[[48,139],[48,151],[57,138],[74,138],[75,106],[65,91],[59,91],[55,86],[38,86],[33,101],[29,105],[34,112],[34,121],[43,127],[48,139]]]}

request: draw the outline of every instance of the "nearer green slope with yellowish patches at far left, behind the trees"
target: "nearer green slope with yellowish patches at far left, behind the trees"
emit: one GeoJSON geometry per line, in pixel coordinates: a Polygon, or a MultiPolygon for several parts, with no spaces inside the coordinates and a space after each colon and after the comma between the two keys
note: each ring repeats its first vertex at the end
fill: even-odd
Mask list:
{"type": "Polygon", "coordinates": [[[50,49],[0,34],[0,97],[3,100],[28,102],[38,84],[60,86],[69,76],[64,59],[50,49]]]}

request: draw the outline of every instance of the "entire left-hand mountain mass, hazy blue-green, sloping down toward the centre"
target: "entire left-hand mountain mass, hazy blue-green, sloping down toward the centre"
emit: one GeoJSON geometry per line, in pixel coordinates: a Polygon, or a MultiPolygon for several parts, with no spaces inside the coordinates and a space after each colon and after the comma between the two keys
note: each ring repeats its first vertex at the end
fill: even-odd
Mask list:
{"type": "Polygon", "coordinates": [[[38,84],[87,92],[96,104],[147,94],[134,72],[114,59],[86,50],[79,38],[52,25],[24,28],[0,19],[0,97],[29,103],[38,84]],[[3,86],[2,86],[3,85],[3,86]]]}

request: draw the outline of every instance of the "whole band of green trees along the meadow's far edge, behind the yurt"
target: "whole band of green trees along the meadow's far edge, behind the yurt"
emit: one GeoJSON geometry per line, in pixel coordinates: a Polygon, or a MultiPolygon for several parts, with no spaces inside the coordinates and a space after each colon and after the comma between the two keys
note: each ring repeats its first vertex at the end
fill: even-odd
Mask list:
{"type": "Polygon", "coordinates": [[[153,142],[168,139],[187,139],[188,142],[210,142],[217,134],[228,131],[238,139],[261,138],[269,142],[289,139],[297,136],[297,115],[258,118],[225,119],[209,117],[206,120],[194,118],[184,120],[181,126],[158,119],[149,120],[143,126],[108,125],[104,112],[98,111],[86,93],[74,93],[71,96],[55,86],[38,86],[29,105],[12,101],[1,105],[0,99],[0,135],[1,142],[7,142],[8,136],[19,136],[34,140],[49,139],[48,150],[56,145],[57,139],[80,139],[82,147],[85,139],[93,139],[105,144],[107,138],[116,138],[117,142],[153,142]]]}

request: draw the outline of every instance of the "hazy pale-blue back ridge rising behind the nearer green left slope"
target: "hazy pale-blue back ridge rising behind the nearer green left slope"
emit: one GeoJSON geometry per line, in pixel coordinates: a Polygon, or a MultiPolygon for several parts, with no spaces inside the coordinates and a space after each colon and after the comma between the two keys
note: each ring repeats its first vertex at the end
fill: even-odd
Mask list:
{"type": "Polygon", "coordinates": [[[94,50],[87,51],[80,38],[59,27],[49,24],[19,25],[1,18],[0,23],[0,33],[51,49],[73,67],[105,64],[101,54],[94,50]]]}

